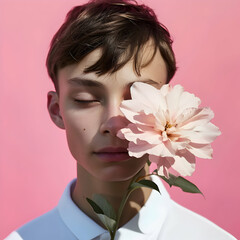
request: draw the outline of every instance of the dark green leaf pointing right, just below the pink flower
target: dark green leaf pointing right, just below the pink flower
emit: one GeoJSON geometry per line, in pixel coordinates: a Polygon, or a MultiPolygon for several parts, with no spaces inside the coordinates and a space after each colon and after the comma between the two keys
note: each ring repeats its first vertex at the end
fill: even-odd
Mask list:
{"type": "Polygon", "coordinates": [[[169,178],[166,178],[164,176],[160,176],[160,177],[165,182],[167,182],[170,187],[176,186],[176,187],[180,187],[184,192],[202,194],[202,192],[199,190],[199,188],[195,184],[193,184],[192,182],[188,181],[187,179],[181,176],[176,177],[173,174],[169,174],[169,178]]]}

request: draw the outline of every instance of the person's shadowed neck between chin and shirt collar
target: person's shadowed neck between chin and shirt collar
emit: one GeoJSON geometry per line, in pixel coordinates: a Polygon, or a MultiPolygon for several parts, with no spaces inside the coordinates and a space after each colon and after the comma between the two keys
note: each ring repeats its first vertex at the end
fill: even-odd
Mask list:
{"type": "MultiPolygon", "coordinates": [[[[138,173],[139,176],[148,174],[148,166],[146,166],[138,173]]],[[[125,181],[101,181],[94,178],[79,164],[77,165],[77,182],[72,193],[72,199],[75,204],[96,223],[102,225],[96,214],[93,212],[91,206],[86,201],[86,198],[93,198],[94,194],[101,194],[113,206],[117,212],[121,204],[124,194],[133,178],[125,181]]],[[[135,176],[134,176],[135,177],[135,176]]],[[[151,189],[139,188],[130,195],[120,220],[120,227],[133,218],[147,201],[151,189]]]]}

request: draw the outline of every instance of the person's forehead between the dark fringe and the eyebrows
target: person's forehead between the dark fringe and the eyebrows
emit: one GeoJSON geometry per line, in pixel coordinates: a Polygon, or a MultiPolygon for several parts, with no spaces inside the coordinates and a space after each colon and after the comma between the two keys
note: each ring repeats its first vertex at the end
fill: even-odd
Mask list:
{"type": "MultiPolygon", "coordinates": [[[[95,72],[85,73],[84,70],[92,66],[96,61],[102,56],[101,49],[96,49],[90,54],[88,54],[82,61],[76,64],[68,65],[58,72],[59,87],[63,87],[69,83],[71,79],[88,79],[98,81],[104,85],[116,86],[116,84],[121,87],[128,85],[129,83],[135,81],[148,81],[155,82],[161,85],[165,84],[167,81],[167,69],[166,64],[159,52],[156,52],[153,56],[154,47],[150,44],[146,45],[141,51],[141,63],[142,67],[140,69],[140,76],[136,73],[134,69],[134,61],[131,59],[127,64],[125,64],[121,69],[114,73],[97,75],[95,72]],[[149,60],[151,60],[149,62],[149,60]],[[148,63],[149,62],[149,63],[148,63]],[[146,63],[148,63],[146,65],[146,63]]],[[[71,82],[71,81],[70,81],[71,82]]]]}

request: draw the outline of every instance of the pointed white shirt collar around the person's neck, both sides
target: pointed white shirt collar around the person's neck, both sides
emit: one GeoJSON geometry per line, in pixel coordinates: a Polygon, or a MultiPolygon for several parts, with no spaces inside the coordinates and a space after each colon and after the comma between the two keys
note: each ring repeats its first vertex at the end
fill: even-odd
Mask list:
{"type": "MultiPolygon", "coordinates": [[[[152,176],[152,180],[158,185],[161,195],[153,190],[139,213],[118,229],[116,239],[120,236],[121,239],[141,239],[143,235],[146,237],[148,233],[155,230],[160,231],[167,216],[170,198],[159,177],[152,176]]],[[[71,187],[75,182],[76,179],[67,185],[57,206],[63,222],[81,240],[89,240],[104,235],[107,231],[89,218],[73,202],[71,187]]]]}

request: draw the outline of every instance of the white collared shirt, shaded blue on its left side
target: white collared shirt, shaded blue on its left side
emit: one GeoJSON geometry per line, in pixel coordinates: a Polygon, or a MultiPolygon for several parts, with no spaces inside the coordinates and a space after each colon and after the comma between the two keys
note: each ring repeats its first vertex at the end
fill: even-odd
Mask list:
{"type": "MultiPolygon", "coordinates": [[[[116,240],[236,240],[206,218],[169,197],[153,176],[161,194],[152,191],[139,213],[116,233],[116,240]]],[[[53,210],[12,232],[5,240],[110,240],[107,230],[83,213],[71,198],[71,181],[53,210]]]]}

